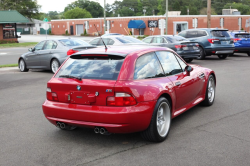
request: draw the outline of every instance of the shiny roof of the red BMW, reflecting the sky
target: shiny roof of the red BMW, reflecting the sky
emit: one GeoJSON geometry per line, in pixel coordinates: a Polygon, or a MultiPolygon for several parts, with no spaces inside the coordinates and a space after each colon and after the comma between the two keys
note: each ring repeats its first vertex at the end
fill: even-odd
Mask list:
{"type": "Polygon", "coordinates": [[[119,56],[127,56],[130,53],[136,52],[136,51],[147,51],[147,50],[170,50],[165,47],[157,47],[157,46],[150,46],[150,45],[130,45],[129,49],[127,45],[112,45],[108,46],[108,49],[106,50],[105,47],[99,47],[89,50],[84,50],[75,53],[74,55],[89,55],[89,54],[100,54],[100,55],[119,55],[119,56]]]}

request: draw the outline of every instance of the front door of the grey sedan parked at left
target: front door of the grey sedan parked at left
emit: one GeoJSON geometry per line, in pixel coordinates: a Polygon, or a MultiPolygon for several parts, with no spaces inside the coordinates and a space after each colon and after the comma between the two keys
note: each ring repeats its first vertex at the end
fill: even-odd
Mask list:
{"type": "Polygon", "coordinates": [[[46,41],[38,43],[30,54],[25,57],[25,62],[28,68],[37,68],[40,66],[39,52],[43,49],[46,41]]]}

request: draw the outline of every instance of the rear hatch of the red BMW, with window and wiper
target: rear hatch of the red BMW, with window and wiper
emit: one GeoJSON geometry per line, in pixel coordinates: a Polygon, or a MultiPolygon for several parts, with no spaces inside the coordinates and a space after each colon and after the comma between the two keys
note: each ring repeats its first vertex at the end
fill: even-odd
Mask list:
{"type": "Polygon", "coordinates": [[[48,82],[48,100],[81,105],[106,105],[124,56],[106,54],[72,55],[48,82]]]}

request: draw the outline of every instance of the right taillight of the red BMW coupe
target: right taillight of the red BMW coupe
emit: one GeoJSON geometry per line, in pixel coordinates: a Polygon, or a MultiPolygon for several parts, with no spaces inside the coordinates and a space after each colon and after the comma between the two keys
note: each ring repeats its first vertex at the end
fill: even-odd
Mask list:
{"type": "Polygon", "coordinates": [[[133,96],[127,93],[116,93],[115,96],[107,97],[108,106],[132,106],[136,105],[133,96]]]}

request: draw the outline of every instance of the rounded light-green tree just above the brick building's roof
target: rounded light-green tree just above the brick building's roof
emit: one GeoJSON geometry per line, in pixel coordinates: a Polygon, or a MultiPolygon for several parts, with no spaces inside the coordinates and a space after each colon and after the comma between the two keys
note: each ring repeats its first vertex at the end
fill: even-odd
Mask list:
{"type": "Polygon", "coordinates": [[[92,18],[90,12],[85,9],[80,9],[76,7],[75,9],[68,10],[64,13],[66,19],[76,19],[76,18],[92,18]]]}

